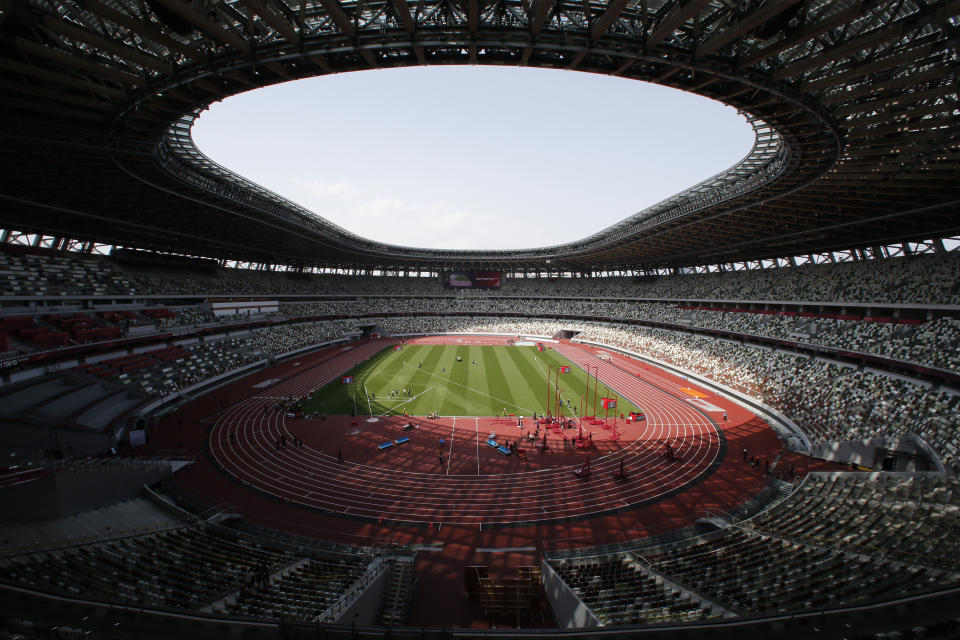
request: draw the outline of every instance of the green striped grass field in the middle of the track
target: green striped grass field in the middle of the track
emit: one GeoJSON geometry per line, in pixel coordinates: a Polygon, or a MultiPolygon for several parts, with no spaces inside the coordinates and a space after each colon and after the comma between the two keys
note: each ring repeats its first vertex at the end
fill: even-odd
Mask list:
{"type": "MultiPolygon", "coordinates": [[[[570,373],[559,377],[560,395],[569,409],[563,415],[580,413],[581,397],[587,391],[587,373],[552,350],[536,347],[405,345],[402,350],[381,351],[345,375],[352,384],[336,381],[317,391],[304,403],[306,413],[357,415],[396,415],[404,411],[425,416],[436,411],[442,416],[499,416],[506,412],[530,416],[547,413],[547,368],[551,373],[551,405],[555,391],[556,367],[566,365],[570,373]],[[463,361],[457,362],[457,356],[463,361]],[[477,364],[473,364],[476,362],[477,364]],[[403,395],[409,389],[410,395],[403,395]],[[400,395],[388,394],[399,390],[400,395]]],[[[592,413],[594,381],[590,380],[592,413]]],[[[597,412],[602,416],[599,398],[606,391],[603,383],[597,392],[597,412]]],[[[609,397],[614,397],[610,395],[609,397]]],[[[551,406],[551,409],[553,407],[551,406]]],[[[626,399],[618,400],[617,413],[635,411],[626,399]]]]}

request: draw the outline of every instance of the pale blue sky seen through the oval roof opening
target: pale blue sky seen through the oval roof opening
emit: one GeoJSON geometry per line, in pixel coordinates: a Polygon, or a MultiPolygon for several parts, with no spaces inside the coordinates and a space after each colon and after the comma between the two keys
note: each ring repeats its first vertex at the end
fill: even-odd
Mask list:
{"type": "Polygon", "coordinates": [[[737,163],[732,107],[574,71],[362,71],[216,103],[208,157],[360,236],[435,249],[573,242],[737,163]]]}

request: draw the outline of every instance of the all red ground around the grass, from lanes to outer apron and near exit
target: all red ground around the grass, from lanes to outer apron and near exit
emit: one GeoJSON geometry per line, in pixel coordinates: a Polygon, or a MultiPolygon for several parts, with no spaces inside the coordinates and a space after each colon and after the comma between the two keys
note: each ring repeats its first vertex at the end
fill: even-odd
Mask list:
{"type": "Polygon", "coordinates": [[[570,446],[577,429],[544,427],[537,442],[525,440],[536,428],[529,418],[518,428],[515,418],[502,417],[368,422],[274,411],[278,398],[305,395],[393,342],[331,347],[251,374],[165,418],[145,453],[202,451],[177,482],[251,522],[358,545],[422,545],[410,622],[450,626],[483,624],[462,595],[465,566],[508,574],[539,564],[543,550],[663,533],[708,511],[729,510],[768,479],[764,465],[756,471],[743,462],[743,449],[770,461],[782,453],[778,469],[793,464],[798,476],[810,468],[805,457],[783,452],[773,430],[739,405],[652,365],[568,342],[551,346],[577,365],[599,366],[601,383],[646,413],[645,422],[634,424],[585,422],[595,445],[589,452],[570,446]],[[404,430],[408,422],[419,428],[404,430]],[[535,446],[544,431],[545,451],[535,446]],[[526,459],[490,447],[492,432],[500,442],[520,441],[526,459]],[[278,450],[281,436],[286,448],[278,450]],[[409,442],[378,449],[405,436],[409,442]],[[666,443],[679,460],[664,456],[666,443]],[[578,478],[574,472],[588,457],[591,477],[578,478]],[[621,464],[626,480],[614,477],[621,464]]]}

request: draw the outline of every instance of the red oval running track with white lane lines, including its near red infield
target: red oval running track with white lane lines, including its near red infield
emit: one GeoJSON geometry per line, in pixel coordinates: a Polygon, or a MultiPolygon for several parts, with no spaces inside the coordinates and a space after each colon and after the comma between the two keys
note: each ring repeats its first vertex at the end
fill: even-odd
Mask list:
{"type": "Polygon", "coordinates": [[[445,417],[421,420],[419,430],[404,432],[405,419],[290,420],[273,410],[278,398],[304,396],[387,344],[343,351],[227,407],[209,435],[215,463],[248,488],[327,515],[482,529],[590,518],[651,503],[702,479],[721,457],[724,439],[716,423],[678,385],[641,380],[570,344],[553,348],[578,365],[599,366],[601,383],[647,415],[646,423],[621,423],[609,432],[591,426],[598,451],[591,454],[589,480],[574,475],[585,454],[564,446],[562,433],[548,434],[547,454],[526,447],[532,460],[497,454],[486,444],[488,433],[498,432],[501,440],[523,433],[509,420],[445,417]],[[379,442],[403,435],[408,444],[377,450],[379,442]],[[294,445],[296,436],[303,447],[294,445]],[[288,444],[278,450],[281,437],[288,444]],[[664,457],[668,442],[679,461],[664,457]],[[338,451],[346,452],[346,462],[338,462],[338,451]],[[626,481],[614,478],[621,465],[626,481]]]}

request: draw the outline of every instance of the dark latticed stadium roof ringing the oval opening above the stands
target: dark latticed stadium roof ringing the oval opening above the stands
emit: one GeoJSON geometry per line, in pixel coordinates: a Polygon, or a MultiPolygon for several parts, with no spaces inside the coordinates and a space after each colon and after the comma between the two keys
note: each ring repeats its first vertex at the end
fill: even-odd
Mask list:
{"type": "Polygon", "coordinates": [[[0,0],[0,227],[426,270],[633,270],[954,235],[958,15],[960,1],[0,0]],[[352,234],[190,138],[238,92],[425,64],[655,82],[735,106],[757,140],[730,170],[577,242],[439,251],[352,234]]]}

